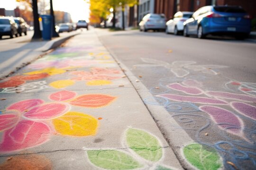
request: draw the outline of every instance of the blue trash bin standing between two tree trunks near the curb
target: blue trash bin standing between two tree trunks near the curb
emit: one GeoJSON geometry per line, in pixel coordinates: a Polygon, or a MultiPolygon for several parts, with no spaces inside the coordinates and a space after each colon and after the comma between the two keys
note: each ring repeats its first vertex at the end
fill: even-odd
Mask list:
{"type": "Polygon", "coordinates": [[[53,17],[50,15],[41,15],[42,18],[42,37],[44,40],[51,40],[52,39],[52,26],[53,26],[53,17]]]}

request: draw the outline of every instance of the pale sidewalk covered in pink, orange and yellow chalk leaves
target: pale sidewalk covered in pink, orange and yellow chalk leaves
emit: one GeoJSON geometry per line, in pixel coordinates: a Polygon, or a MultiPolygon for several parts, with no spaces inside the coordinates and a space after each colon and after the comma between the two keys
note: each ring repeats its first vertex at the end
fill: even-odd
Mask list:
{"type": "Polygon", "coordinates": [[[183,169],[125,73],[90,30],[2,80],[0,169],[183,169]]]}

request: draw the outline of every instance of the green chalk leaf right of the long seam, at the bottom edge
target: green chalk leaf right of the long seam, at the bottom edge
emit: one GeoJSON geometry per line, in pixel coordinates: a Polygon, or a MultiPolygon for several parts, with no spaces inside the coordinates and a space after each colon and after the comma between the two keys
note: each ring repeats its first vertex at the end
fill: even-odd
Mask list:
{"type": "Polygon", "coordinates": [[[190,144],[183,148],[187,161],[199,170],[218,170],[222,164],[215,149],[201,144],[190,144]]]}

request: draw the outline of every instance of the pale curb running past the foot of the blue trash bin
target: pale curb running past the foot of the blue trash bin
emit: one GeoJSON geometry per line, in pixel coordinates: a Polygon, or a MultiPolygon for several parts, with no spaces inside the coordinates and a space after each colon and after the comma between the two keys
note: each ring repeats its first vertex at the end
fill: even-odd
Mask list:
{"type": "Polygon", "coordinates": [[[69,38],[78,35],[81,33],[73,33],[73,34],[69,34],[63,37],[58,37],[54,40],[51,40],[49,42],[47,42],[43,47],[38,48],[37,51],[42,51],[42,52],[46,52],[50,49],[55,49],[56,47],[60,46],[63,42],[65,42],[66,40],[68,40],[69,38]]]}

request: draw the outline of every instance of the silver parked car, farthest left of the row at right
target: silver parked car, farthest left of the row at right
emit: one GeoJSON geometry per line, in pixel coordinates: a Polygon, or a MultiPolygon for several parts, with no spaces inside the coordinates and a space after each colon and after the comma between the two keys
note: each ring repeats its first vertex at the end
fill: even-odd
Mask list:
{"type": "Polygon", "coordinates": [[[147,14],[139,23],[139,30],[146,32],[147,30],[165,30],[164,14],[147,14]]]}

